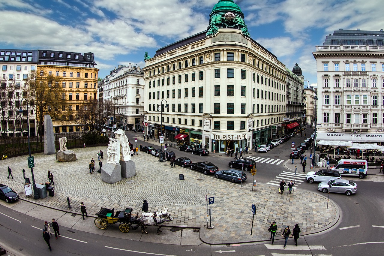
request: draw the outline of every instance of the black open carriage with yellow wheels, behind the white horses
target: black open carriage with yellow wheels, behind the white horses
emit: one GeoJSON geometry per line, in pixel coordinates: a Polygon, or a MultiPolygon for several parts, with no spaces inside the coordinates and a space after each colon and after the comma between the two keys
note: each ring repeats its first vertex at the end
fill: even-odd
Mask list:
{"type": "Polygon", "coordinates": [[[114,213],[113,209],[101,208],[97,213],[98,218],[94,220],[96,227],[99,229],[106,229],[111,224],[119,223],[121,232],[128,233],[133,224],[139,225],[140,222],[135,217],[131,216],[132,208],[126,208],[124,211],[117,211],[114,213]]]}

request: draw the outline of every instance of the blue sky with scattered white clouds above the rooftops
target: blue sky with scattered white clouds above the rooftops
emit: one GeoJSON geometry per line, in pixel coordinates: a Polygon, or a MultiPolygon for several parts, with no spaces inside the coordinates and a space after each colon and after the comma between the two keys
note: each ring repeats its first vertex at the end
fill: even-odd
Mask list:
{"type": "MultiPolygon", "coordinates": [[[[99,77],[202,32],[218,0],[0,0],[0,48],[93,52],[99,77]]],[[[326,35],[384,29],[382,0],[234,0],[251,37],[316,85],[326,35]]]]}

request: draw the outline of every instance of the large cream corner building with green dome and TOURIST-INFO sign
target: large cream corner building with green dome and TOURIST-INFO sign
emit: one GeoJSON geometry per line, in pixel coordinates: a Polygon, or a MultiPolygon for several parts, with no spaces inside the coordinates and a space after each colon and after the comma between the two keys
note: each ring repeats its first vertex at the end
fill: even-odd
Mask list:
{"type": "Polygon", "coordinates": [[[207,30],[149,55],[145,134],[216,153],[251,150],[282,134],[285,65],[251,38],[233,0],[214,5],[207,30]]]}

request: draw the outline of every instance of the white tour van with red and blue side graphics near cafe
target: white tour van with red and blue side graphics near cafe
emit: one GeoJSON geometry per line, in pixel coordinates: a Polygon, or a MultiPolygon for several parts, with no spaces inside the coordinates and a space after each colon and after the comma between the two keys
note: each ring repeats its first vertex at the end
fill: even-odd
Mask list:
{"type": "Polygon", "coordinates": [[[340,159],[331,170],[339,171],[341,175],[359,176],[362,179],[368,175],[368,164],[367,160],[340,159]]]}

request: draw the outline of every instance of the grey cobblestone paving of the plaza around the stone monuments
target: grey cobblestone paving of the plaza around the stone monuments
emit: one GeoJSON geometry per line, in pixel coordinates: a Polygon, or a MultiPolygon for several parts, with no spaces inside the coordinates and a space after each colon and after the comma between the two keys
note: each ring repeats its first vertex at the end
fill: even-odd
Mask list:
{"type": "MultiPolygon", "coordinates": [[[[106,147],[74,149],[78,160],[68,163],[56,161],[55,155],[34,155],[36,183],[48,181],[48,170],[54,175],[53,197],[38,200],[26,198],[22,169],[25,168],[27,177],[31,176],[26,156],[1,161],[0,183],[12,187],[22,199],[78,214],[82,201],[89,215],[96,214],[101,207],[121,210],[129,206],[134,213],[140,213],[142,200],[146,199],[149,211],[168,208],[174,217],[170,224],[199,227],[200,238],[210,244],[268,240],[270,234],[267,229],[271,221],[278,224],[278,232],[286,224],[293,227],[295,223],[300,223],[302,234],[306,234],[324,230],[339,218],[338,207],[331,202],[326,209],[327,199],[319,194],[296,190],[292,194],[281,195],[276,187],[260,184],[252,191],[251,184],[241,186],[179,166],[170,168],[168,162],[160,163],[158,158],[142,152],[132,157],[136,163],[136,176],[107,184],[101,181],[99,173],[90,174],[88,170],[92,157],[95,166],[98,166],[96,154],[100,149],[107,151],[106,147]],[[13,180],[7,178],[8,166],[12,168],[13,180]],[[179,180],[181,173],[184,174],[184,181],[179,180]],[[211,205],[214,229],[205,227],[205,195],[215,196],[215,203],[211,205]],[[67,196],[71,200],[71,209],[68,209],[67,196]],[[251,236],[253,203],[257,212],[251,236]]],[[[106,158],[102,161],[106,163],[106,158]]]]}

